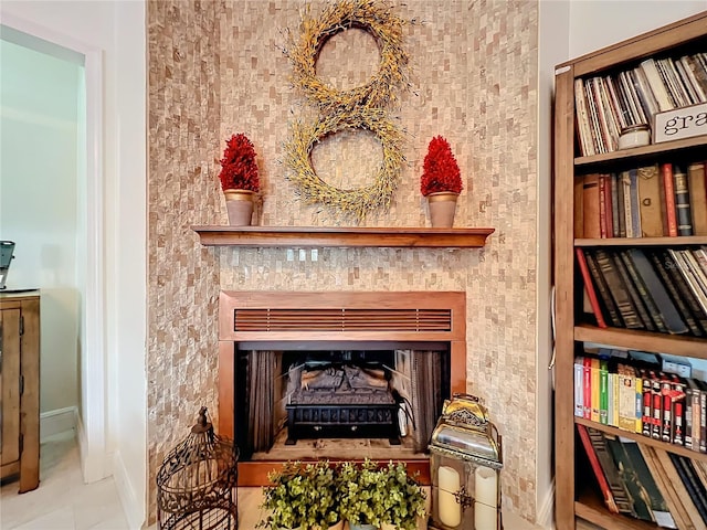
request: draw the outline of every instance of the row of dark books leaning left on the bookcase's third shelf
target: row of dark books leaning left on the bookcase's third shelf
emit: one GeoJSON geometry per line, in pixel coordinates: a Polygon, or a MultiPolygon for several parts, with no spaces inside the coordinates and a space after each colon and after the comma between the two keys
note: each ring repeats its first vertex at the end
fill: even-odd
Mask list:
{"type": "Polygon", "coordinates": [[[576,248],[597,326],[707,337],[707,246],[576,248]]]}

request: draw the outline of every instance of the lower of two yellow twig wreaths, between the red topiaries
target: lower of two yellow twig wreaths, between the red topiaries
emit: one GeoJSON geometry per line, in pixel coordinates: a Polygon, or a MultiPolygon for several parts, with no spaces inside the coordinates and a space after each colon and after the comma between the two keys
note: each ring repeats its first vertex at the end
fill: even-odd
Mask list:
{"type": "Polygon", "coordinates": [[[333,114],[313,124],[297,121],[293,126],[292,139],[285,146],[286,162],[293,170],[289,180],[298,184],[299,193],[307,202],[321,202],[360,221],[369,210],[390,205],[403,162],[401,138],[400,131],[391,124],[386,113],[378,108],[359,109],[351,114],[333,114]],[[374,182],[365,188],[349,190],[326,183],[312,167],[310,155],[315,145],[329,135],[360,128],[373,132],[383,149],[383,162],[374,182]]]}

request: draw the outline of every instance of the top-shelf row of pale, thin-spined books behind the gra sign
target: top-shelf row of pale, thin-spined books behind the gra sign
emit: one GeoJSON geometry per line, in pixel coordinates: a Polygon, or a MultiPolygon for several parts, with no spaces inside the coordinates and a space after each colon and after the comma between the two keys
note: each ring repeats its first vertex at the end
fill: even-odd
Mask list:
{"type": "Polygon", "coordinates": [[[622,131],[648,128],[657,113],[707,102],[707,53],[648,57],[611,75],[574,80],[576,129],[583,156],[611,152],[622,131]]]}

